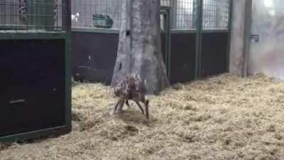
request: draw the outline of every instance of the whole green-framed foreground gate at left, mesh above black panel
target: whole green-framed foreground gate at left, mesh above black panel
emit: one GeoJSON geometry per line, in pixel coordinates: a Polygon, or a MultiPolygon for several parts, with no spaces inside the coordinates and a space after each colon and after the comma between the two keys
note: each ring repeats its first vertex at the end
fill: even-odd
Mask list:
{"type": "Polygon", "coordinates": [[[0,1],[0,141],[71,131],[70,9],[69,0],[0,1]]]}

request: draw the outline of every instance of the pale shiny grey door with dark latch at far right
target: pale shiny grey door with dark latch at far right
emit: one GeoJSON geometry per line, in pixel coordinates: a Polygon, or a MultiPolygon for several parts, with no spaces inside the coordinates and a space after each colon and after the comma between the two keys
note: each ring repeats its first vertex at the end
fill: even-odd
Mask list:
{"type": "Polygon", "coordinates": [[[253,0],[249,73],[284,79],[284,1],[253,0]]]}

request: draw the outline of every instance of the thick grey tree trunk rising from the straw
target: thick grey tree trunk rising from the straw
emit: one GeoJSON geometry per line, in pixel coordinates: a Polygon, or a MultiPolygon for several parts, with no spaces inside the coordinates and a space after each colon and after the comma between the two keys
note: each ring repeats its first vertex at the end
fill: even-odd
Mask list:
{"type": "Polygon", "coordinates": [[[129,73],[141,76],[148,94],[157,94],[169,85],[161,54],[159,0],[124,1],[111,86],[129,73]]]}

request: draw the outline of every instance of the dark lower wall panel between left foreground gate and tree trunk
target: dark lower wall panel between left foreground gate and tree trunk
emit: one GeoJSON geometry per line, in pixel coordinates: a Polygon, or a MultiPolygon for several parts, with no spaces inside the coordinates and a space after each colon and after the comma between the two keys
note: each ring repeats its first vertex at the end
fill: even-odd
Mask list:
{"type": "Polygon", "coordinates": [[[119,34],[73,32],[72,43],[75,80],[110,84],[119,34]]]}

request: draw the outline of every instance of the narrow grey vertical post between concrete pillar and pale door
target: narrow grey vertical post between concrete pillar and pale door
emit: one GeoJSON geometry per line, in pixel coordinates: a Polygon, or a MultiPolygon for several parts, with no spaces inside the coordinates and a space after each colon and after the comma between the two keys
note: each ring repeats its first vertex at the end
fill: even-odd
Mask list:
{"type": "Polygon", "coordinates": [[[241,76],[244,78],[248,76],[249,63],[249,49],[251,37],[251,7],[252,0],[246,0],[245,20],[244,20],[244,50],[243,50],[243,64],[241,76]]]}

